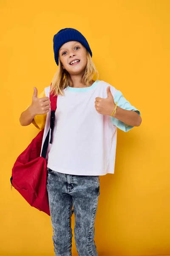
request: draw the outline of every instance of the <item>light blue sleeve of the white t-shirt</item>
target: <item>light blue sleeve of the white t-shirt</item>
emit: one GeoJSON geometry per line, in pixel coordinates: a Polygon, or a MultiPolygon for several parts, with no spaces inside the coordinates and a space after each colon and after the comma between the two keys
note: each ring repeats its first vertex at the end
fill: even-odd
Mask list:
{"type": "MultiPolygon", "coordinates": [[[[133,107],[132,105],[130,105],[130,102],[128,102],[123,94],[121,93],[121,91],[117,91],[114,96],[113,96],[114,102],[117,102],[117,106],[119,106],[120,108],[126,109],[126,110],[132,110],[132,111],[136,111],[139,116],[141,115],[140,111],[138,109],[136,109],[135,107],[133,107]]],[[[133,126],[127,125],[124,122],[120,121],[119,119],[114,118],[113,116],[111,116],[111,122],[113,125],[116,125],[117,128],[119,128],[122,131],[129,131],[130,129],[133,128],[133,126]]]]}

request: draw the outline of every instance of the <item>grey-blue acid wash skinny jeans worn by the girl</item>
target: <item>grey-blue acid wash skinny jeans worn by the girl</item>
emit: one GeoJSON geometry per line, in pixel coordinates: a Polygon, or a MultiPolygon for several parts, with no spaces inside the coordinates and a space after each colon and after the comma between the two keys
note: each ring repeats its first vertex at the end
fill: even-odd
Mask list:
{"type": "Polygon", "coordinates": [[[78,255],[98,256],[94,242],[94,222],[100,194],[99,176],[69,175],[47,169],[47,192],[55,256],[72,256],[73,212],[78,255]]]}

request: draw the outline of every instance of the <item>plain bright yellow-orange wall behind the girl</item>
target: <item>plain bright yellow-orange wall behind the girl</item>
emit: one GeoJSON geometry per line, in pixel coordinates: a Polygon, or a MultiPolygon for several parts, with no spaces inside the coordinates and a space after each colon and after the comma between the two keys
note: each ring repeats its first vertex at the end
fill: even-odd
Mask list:
{"type": "Polygon", "coordinates": [[[82,32],[99,79],[121,90],[143,119],[118,131],[115,174],[100,176],[99,256],[170,255],[170,1],[1,0],[0,23],[0,256],[54,255],[50,217],[11,191],[10,177],[38,133],[20,125],[20,113],[34,86],[40,93],[50,85],[53,36],[65,27],[82,32]]]}

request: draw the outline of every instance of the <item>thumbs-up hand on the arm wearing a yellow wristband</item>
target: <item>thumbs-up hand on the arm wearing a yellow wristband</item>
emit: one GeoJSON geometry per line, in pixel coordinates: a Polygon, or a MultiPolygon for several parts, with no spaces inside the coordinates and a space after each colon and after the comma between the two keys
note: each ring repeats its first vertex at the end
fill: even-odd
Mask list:
{"type": "Polygon", "coordinates": [[[116,106],[114,103],[113,95],[111,94],[110,86],[107,88],[107,94],[108,97],[105,99],[96,97],[95,108],[98,113],[110,116],[116,106]]]}

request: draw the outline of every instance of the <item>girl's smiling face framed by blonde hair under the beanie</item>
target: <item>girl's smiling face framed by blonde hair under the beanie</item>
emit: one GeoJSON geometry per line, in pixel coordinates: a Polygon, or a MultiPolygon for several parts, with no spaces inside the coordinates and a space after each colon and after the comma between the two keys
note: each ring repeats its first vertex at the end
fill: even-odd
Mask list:
{"type": "Polygon", "coordinates": [[[87,65],[86,48],[76,41],[67,42],[59,49],[59,59],[70,75],[81,74],[87,65]]]}

